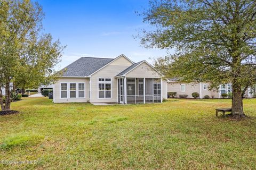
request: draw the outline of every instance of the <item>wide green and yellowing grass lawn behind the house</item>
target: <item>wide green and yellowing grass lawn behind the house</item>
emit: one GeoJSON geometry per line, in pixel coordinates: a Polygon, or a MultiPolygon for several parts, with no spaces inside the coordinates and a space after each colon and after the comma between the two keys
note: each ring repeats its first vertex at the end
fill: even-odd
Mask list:
{"type": "Polygon", "coordinates": [[[0,169],[256,169],[256,99],[243,121],[215,117],[229,99],[163,104],[12,103],[0,116],[0,160],[36,160],[0,169]]]}

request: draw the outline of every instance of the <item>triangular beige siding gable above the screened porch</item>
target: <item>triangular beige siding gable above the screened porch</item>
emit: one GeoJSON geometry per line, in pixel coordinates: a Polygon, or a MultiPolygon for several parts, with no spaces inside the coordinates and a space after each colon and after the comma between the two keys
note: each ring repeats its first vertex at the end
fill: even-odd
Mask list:
{"type": "Polygon", "coordinates": [[[126,78],[161,78],[161,75],[147,63],[142,63],[127,73],[126,78]]]}

